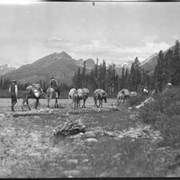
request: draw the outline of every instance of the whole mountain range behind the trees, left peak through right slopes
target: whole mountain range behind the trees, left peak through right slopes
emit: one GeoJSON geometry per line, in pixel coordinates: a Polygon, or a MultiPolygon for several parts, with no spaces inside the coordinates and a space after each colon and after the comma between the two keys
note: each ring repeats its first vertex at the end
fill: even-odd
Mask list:
{"type": "MultiPolygon", "coordinates": [[[[169,49],[173,50],[174,46],[165,50],[164,54],[166,54],[169,49]]],[[[140,66],[145,71],[152,73],[157,64],[157,58],[158,53],[154,53],[142,61],[140,66]]],[[[75,72],[77,72],[78,68],[83,68],[84,62],[86,62],[87,72],[90,72],[90,70],[93,69],[95,65],[95,61],[93,59],[89,58],[86,60],[76,60],[65,51],[62,51],[61,53],[55,52],[44,56],[31,64],[26,64],[12,71],[8,71],[7,73],[0,74],[0,76],[10,79],[15,78],[21,83],[31,83],[39,80],[47,80],[54,76],[61,83],[64,82],[67,85],[71,85],[75,72]]],[[[129,60],[126,63],[116,64],[116,73],[121,76],[122,66],[130,69],[132,63],[133,61],[129,60]]]]}

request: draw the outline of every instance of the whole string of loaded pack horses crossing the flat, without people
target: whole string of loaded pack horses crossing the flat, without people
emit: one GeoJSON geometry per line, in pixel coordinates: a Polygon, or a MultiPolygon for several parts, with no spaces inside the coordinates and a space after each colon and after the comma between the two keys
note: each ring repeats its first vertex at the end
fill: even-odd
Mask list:
{"type": "MultiPolygon", "coordinates": [[[[46,92],[43,91],[43,89],[40,87],[39,84],[33,84],[29,85],[26,88],[26,91],[23,93],[23,102],[22,102],[22,110],[24,110],[24,105],[26,103],[27,107],[29,110],[31,108],[29,107],[28,99],[33,98],[36,100],[35,104],[35,109],[37,109],[38,104],[39,104],[39,99],[44,97],[47,99],[47,107],[49,108],[49,102],[51,99],[55,99],[55,108],[58,108],[58,99],[60,97],[60,91],[61,87],[58,87],[57,90],[55,91],[52,87],[48,87],[46,92]],[[56,94],[58,92],[58,95],[56,94]]],[[[147,96],[147,90],[145,91],[145,95],[147,96]]],[[[71,107],[73,109],[77,108],[85,108],[85,103],[87,98],[90,95],[90,90],[88,88],[81,88],[81,89],[76,89],[72,88],[69,91],[68,98],[72,100],[71,107]],[[83,102],[81,106],[81,101],[83,102]]],[[[118,92],[117,94],[117,99],[115,104],[119,106],[120,104],[124,104],[128,98],[135,97],[137,96],[136,91],[129,91],[128,89],[122,89],[118,92]]],[[[101,107],[103,105],[103,101],[107,103],[107,93],[103,89],[96,89],[93,92],[93,99],[94,99],[94,107],[101,107]]]]}

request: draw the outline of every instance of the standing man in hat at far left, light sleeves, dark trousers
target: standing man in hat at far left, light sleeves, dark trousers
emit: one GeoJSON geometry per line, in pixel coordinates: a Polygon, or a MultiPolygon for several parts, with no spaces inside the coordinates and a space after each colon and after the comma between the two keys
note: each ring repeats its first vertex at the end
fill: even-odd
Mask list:
{"type": "Polygon", "coordinates": [[[12,80],[9,86],[9,93],[11,94],[11,110],[14,111],[14,106],[17,103],[18,87],[16,80],[12,80]]]}

